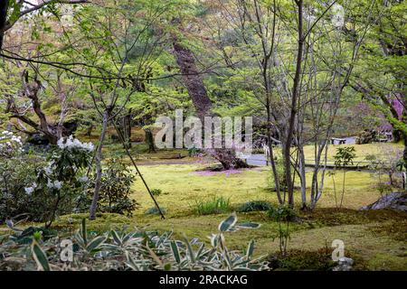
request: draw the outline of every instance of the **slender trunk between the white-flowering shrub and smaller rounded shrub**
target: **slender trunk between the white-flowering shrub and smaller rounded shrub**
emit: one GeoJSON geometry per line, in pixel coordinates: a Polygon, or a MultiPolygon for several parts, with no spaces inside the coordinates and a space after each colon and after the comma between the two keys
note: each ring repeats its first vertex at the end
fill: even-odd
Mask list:
{"type": "Polygon", "coordinates": [[[99,137],[99,145],[98,150],[96,151],[95,155],[95,165],[96,165],[96,181],[95,181],[95,190],[93,191],[93,199],[90,205],[90,216],[89,219],[96,219],[96,210],[98,209],[98,201],[99,201],[99,191],[101,185],[101,158],[102,158],[102,147],[103,141],[105,140],[106,132],[108,130],[108,120],[110,116],[110,110],[107,108],[103,114],[103,125],[102,130],[99,137]]]}

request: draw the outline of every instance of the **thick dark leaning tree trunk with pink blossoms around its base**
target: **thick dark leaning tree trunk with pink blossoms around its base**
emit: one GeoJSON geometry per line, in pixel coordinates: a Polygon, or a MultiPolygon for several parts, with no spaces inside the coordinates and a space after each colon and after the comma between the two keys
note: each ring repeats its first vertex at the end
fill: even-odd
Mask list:
{"type": "MultiPolygon", "coordinates": [[[[176,38],[173,46],[176,63],[183,75],[186,89],[192,98],[198,117],[204,124],[204,117],[211,116],[212,102],[208,97],[204,81],[196,68],[194,54],[176,38]]],[[[222,163],[225,170],[247,167],[247,164],[238,158],[232,149],[213,149],[210,154],[222,163]]]]}

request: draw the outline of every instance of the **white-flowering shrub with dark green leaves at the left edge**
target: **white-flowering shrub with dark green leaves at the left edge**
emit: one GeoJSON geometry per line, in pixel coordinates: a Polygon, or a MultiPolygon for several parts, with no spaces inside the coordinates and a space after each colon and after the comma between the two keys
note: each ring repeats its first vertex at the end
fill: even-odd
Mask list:
{"type": "Polygon", "coordinates": [[[2,156],[7,157],[0,157],[0,222],[24,216],[50,226],[56,216],[74,210],[86,190],[93,144],[70,136],[48,155],[20,154],[21,139],[9,132],[1,135],[2,156]]]}

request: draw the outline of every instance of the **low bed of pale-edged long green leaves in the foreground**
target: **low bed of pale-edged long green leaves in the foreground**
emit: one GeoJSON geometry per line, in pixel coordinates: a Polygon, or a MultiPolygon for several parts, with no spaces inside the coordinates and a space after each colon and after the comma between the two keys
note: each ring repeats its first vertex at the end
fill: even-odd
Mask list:
{"type": "MultiPolygon", "coordinates": [[[[236,225],[237,216],[232,214],[224,219],[220,228],[228,232],[241,228],[257,228],[257,224],[242,223],[236,225]]],[[[267,269],[263,258],[251,259],[254,252],[254,241],[248,244],[244,252],[229,250],[224,246],[225,238],[222,231],[213,234],[213,247],[206,247],[197,238],[173,239],[172,232],[158,235],[151,231],[109,230],[96,236],[87,232],[86,220],[82,220],[80,229],[73,242],[72,249],[75,262],[69,263],[72,270],[261,270],[267,269]]],[[[28,260],[23,270],[32,270],[33,265],[41,271],[62,270],[61,239],[33,239],[30,244],[19,244],[10,239],[2,243],[2,250],[14,256],[25,256],[26,250],[32,252],[33,260],[28,260]],[[39,245],[41,244],[41,246],[39,245]],[[4,250],[5,248],[5,250],[4,250]],[[47,254],[45,253],[48,253],[47,254]],[[34,262],[35,263],[34,263],[34,262]]],[[[0,266],[2,260],[0,259],[0,266]]]]}

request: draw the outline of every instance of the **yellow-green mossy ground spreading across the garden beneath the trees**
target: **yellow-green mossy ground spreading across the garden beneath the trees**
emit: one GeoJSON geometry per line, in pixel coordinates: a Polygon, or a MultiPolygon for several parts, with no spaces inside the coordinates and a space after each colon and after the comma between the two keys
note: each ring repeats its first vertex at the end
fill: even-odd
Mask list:
{"type": "MultiPolygon", "coordinates": [[[[393,147],[395,144],[388,145],[393,147]]],[[[377,150],[374,144],[355,146],[357,154],[378,154],[381,151],[377,150]]],[[[312,151],[309,147],[307,150],[312,151]]],[[[159,154],[175,153],[178,154],[170,151],[159,154]]],[[[144,157],[148,160],[147,154],[144,157]]],[[[185,234],[189,238],[196,237],[207,241],[207,237],[216,232],[219,222],[228,213],[197,216],[193,210],[196,201],[223,197],[230,200],[231,211],[250,200],[267,200],[277,204],[275,192],[270,190],[270,168],[208,172],[205,171],[208,163],[201,163],[200,160],[185,158],[179,163],[171,161],[173,160],[152,155],[149,161],[141,162],[140,165],[150,188],[162,191],[157,200],[166,210],[166,219],[145,213],[154,203],[142,182],[137,179],[132,197],[140,207],[134,216],[128,219],[114,214],[103,214],[90,221],[90,228],[102,230],[126,226],[160,231],[173,230],[176,237],[185,234]],[[151,161],[152,158],[156,158],[156,163],[151,161]]],[[[342,175],[337,174],[335,178],[339,196],[342,175]]],[[[321,262],[321,258],[327,257],[323,252],[332,252],[332,241],[341,239],[345,242],[345,256],[355,259],[355,269],[407,270],[407,214],[391,210],[360,211],[361,207],[381,196],[375,189],[377,177],[371,172],[346,172],[345,180],[342,209],[336,209],[333,180],[329,176],[317,209],[312,213],[299,212],[299,221],[290,224],[289,256],[292,257],[288,261],[287,269],[323,269],[325,265],[329,266],[329,260],[319,265],[310,263],[321,262]]],[[[299,197],[297,192],[297,204],[299,197]]],[[[73,230],[79,226],[83,217],[86,215],[63,216],[56,221],[55,226],[73,230]],[[69,218],[73,223],[68,226],[69,218]]],[[[265,212],[238,213],[238,218],[240,221],[258,222],[261,227],[227,233],[226,242],[229,247],[244,249],[251,239],[255,239],[257,256],[278,254],[279,243],[273,240],[278,232],[278,224],[268,219],[265,212]]]]}

